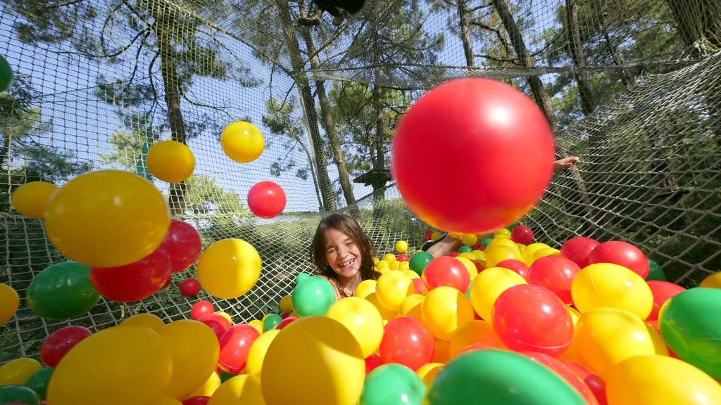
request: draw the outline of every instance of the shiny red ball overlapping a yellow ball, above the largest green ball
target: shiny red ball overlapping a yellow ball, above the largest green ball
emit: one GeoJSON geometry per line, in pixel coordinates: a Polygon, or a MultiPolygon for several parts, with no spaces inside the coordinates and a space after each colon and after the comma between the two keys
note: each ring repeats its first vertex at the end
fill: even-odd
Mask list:
{"type": "Polygon", "coordinates": [[[500,341],[516,352],[557,356],[573,339],[566,306],[541,285],[514,285],[503,291],[493,304],[492,320],[500,341]]]}

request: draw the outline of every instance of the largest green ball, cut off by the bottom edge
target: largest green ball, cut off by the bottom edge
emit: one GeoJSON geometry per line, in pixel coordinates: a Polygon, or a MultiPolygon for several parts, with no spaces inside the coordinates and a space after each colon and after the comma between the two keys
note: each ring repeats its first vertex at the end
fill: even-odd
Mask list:
{"type": "Polygon", "coordinates": [[[507,350],[476,350],[456,357],[435,377],[428,405],[585,405],[563,378],[530,358],[507,350]]]}

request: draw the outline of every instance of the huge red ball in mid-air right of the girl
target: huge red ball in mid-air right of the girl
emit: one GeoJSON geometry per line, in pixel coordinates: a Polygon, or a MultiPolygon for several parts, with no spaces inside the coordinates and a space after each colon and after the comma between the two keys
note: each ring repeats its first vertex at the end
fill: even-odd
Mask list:
{"type": "Polygon", "coordinates": [[[536,102],[500,81],[456,79],[431,89],[403,115],[391,172],[425,223],[485,233],[518,221],[539,202],[553,160],[552,130],[536,102]],[[470,162],[464,176],[459,162],[470,162]],[[473,187],[466,179],[474,179],[473,187]]]}

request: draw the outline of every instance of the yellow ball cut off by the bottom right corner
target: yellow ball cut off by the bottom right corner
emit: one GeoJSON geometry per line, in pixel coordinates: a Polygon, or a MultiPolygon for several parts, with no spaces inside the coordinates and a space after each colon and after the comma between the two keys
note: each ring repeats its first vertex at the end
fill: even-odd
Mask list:
{"type": "Polygon", "coordinates": [[[721,385],[673,357],[636,356],[611,368],[606,395],[613,405],[721,404],[721,385]]]}

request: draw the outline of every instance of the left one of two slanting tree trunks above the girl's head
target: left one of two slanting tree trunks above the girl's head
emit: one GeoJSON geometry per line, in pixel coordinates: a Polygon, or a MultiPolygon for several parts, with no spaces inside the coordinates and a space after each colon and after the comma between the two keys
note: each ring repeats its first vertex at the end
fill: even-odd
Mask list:
{"type": "Polygon", "coordinates": [[[293,80],[298,85],[298,93],[303,102],[303,111],[306,117],[306,124],[311,135],[311,148],[313,149],[314,163],[316,174],[318,176],[318,185],[320,187],[321,196],[323,197],[323,208],[326,211],[336,209],[335,195],[333,187],[328,176],[327,156],[323,148],[323,139],[318,128],[318,115],[315,110],[315,102],[311,88],[303,68],[303,59],[301,58],[301,48],[298,45],[298,37],[293,30],[293,20],[291,19],[291,10],[288,8],[288,0],[275,0],[278,5],[281,30],[283,31],[283,40],[286,43],[288,54],[291,57],[291,66],[293,68],[293,80]]]}

